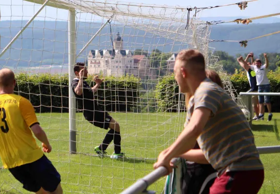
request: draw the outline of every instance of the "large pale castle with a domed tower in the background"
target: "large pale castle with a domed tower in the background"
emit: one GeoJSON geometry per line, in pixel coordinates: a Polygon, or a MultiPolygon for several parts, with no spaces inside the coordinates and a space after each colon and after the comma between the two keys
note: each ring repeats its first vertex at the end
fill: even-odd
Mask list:
{"type": "Polygon", "coordinates": [[[121,77],[134,75],[141,80],[156,79],[151,68],[151,60],[145,55],[134,55],[131,50],[123,49],[123,38],[118,32],[114,37],[113,50],[91,50],[88,55],[90,74],[103,73],[104,76],[121,77]]]}

